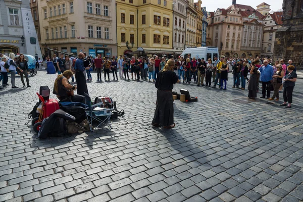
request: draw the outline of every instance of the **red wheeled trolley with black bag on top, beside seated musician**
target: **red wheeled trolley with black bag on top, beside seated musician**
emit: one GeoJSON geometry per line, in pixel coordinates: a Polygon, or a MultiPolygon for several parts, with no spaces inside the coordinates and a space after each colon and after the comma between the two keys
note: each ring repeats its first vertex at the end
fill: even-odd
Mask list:
{"type": "Polygon", "coordinates": [[[36,133],[39,132],[43,119],[49,117],[51,114],[60,109],[57,99],[49,99],[50,92],[51,90],[49,90],[48,86],[41,86],[40,94],[37,93],[39,97],[39,107],[37,107],[37,111],[39,113],[31,122],[36,133]]]}

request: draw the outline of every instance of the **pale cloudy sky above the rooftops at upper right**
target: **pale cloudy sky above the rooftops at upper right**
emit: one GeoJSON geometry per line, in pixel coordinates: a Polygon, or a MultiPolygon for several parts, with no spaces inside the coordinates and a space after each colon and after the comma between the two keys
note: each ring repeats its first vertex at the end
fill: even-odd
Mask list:
{"type": "MultiPolygon", "coordinates": [[[[202,7],[206,7],[207,11],[214,12],[218,8],[220,9],[227,9],[230,5],[232,5],[232,0],[201,0],[202,1],[202,7]]],[[[194,2],[197,2],[197,0],[194,0],[194,2]]],[[[282,0],[237,0],[237,4],[242,5],[248,5],[252,8],[257,9],[257,6],[261,3],[265,2],[266,4],[271,5],[270,9],[273,11],[277,11],[279,9],[282,9],[282,0]]]]}

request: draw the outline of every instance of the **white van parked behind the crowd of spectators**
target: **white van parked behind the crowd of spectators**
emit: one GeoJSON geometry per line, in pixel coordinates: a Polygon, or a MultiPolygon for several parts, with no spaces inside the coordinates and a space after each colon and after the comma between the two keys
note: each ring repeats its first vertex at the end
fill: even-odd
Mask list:
{"type": "Polygon", "coordinates": [[[183,51],[180,57],[186,60],[188,54],[190,58],[195,58],[196,60],[204,58],[206,62],[209,58],[214,61],[215,56],[220,57],[218,47],[188,47],[183,51]]]}

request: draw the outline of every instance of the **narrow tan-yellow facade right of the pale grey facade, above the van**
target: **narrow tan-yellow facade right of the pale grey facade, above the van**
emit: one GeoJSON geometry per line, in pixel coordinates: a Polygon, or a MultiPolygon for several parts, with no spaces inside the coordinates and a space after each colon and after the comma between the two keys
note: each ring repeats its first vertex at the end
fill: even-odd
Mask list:
{"type": "Polygon", "coordinates": [[[186,23],[186,40],[185,48],[196,47],[196,21],[198,20],[198,14],[194,8],[193,0],[187,1],[187,23],[186,23]]]}

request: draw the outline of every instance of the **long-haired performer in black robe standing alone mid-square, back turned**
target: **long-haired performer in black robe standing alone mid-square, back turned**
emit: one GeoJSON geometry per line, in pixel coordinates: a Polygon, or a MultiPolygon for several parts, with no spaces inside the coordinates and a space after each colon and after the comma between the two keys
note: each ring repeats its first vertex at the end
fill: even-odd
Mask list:
{"type": "Polygon", "coordinates": [[[174,84],[179,83],[179,77],[173,71],[175,62],[174,60],[167,61],[163,70],[158,73],[156,80],[157,90],[157,103],[155,116],[151,125],[155,127],[173,128],[174,123],[174,106],[172,89],[174,84]]]}

